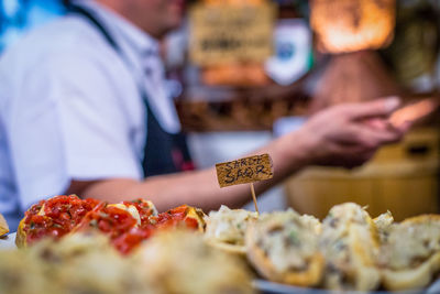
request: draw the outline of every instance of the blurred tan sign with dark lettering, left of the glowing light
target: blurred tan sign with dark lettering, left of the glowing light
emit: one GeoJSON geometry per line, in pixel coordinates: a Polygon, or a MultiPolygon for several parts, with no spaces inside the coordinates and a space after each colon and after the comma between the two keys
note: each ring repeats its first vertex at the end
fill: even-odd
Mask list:
{"type": "Polygon", "coordinates": [[[248,61],[272,55],[275,6],[199,3],[189,11],[189,54],[198,65],[248,61]]]}

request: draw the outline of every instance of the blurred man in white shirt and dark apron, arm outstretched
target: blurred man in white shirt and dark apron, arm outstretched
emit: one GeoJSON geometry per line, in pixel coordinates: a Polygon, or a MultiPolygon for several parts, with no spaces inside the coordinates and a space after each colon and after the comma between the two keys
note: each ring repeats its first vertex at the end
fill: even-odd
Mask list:
{"type": "MultiPolygon", "coordinates": [[[[160,210],[246,203],[249,187],[220,189],[215,168],[186,171],[158,54],[184,1],[75,1],[69,11],[0,59],[0,211],[11,227],[31,204],[66,193],[144,197],[160,210]]],[[[386,120],[397,107],[396,98],[338,106],[255,151],[270,153],[275,171],[257,193],[307,165],[362,164],[400,139],[386,120]]]]}

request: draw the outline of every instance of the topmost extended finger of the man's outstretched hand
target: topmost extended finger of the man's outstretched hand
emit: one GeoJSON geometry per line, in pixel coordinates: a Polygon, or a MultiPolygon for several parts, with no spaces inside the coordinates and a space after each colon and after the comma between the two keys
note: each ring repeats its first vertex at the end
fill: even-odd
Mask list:
{"type": "Polygon", "coordinates": [[[388,97],[364,104],[348,104],[341,106],[342,113],[351,120],[391,115],[400,105],[398,97],[388,97]]]}

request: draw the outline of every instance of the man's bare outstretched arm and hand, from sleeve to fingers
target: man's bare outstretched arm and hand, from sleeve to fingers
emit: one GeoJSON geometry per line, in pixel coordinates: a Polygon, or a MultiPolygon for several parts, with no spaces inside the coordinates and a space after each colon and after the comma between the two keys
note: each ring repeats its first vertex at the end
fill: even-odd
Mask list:
{"type": "MultiPolygon", "coordinates": [[[[399,140],[403,130],[391,126],[387,117],[398,99],[343,105],[317,113],[298,131],[278,138],[252,154],[268,153],[274,177],[255,183],[261,194],[309,164],[354,167],[369,160],[378,146],[399,140]]],[[[249,187],[220,189],[216,168],[152,176],[145,181],[105,178],[73,181],[69,193],[117,203],[136,197],[152,200],[160,210],[180,204],[217,209],[221,204],[240,207],[249,202],[249,187]]]]}

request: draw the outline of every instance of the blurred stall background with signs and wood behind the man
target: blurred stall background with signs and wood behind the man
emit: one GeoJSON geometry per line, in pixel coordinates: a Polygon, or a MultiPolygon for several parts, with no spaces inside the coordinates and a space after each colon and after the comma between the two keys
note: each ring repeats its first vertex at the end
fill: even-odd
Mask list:
{"type": "MultiPolygon", "coordinates": [[[[59,1],[0,3],[0,50],[63,13],[59,1]]],[[[239,157],[332,105],[439,99],[439,10],[429,0],[187,1],[186,24],[164,42],[164,56],[196,163],[239,157]]],[[[345,200],[397,218],[438,211],[438,113],[420,120],[359,171],[305,171],[263,197],[262,210],[287,199],[317,215],[345,200]]]]}

